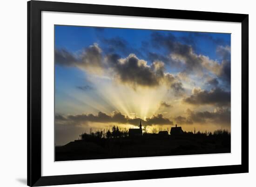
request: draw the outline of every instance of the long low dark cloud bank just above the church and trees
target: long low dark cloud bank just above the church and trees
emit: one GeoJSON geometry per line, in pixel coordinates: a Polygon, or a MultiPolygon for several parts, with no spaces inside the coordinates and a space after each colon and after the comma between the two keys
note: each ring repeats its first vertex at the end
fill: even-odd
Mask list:
{"type": "MultiPolygon", "coordinates": [[[[129,118],[120,112],[114,112],[112,115],[108,115],[102,112],[99,112],[97,115],[94,114],[78,114],[78,115],[67,115],[63,116],[60,114],[55,115],[55,121],[58,124],[72,124],[72,125],[81,125],[86,124],[87,122],[98,122],[98,123],[120,123],[120,124],[131,124],[139,125],[140,118],[129,118]]],[[[162,114],[153,115],[146,120],[141,120],[142,125],[171,125],[173,124],[167,118],[164,118],[162,114]]]]}

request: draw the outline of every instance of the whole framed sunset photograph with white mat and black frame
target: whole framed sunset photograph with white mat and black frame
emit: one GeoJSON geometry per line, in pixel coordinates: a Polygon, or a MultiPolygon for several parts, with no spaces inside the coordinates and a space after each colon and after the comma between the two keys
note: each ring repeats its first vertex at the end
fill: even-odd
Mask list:
{"type": "Polygon", "coordinates": [[[27,185],[249,172],[249,15],[27,2],[27,185]]]}

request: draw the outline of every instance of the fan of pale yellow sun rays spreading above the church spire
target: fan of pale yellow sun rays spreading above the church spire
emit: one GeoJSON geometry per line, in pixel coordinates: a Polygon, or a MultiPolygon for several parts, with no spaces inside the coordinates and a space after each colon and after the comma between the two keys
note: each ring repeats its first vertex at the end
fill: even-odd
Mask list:
{"type": "Polygon", "coordinates": [[[118,111],[129,118],[145,119],[155,115],[168,90],[165,86],[157,88],[138,87],[136,90],[126,85],[113,83],[97,77],[89,80],[93,90],[74,90],[74,95],[94,111],[118,111]]]}

